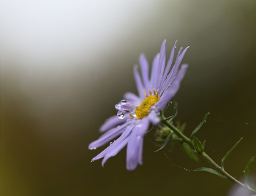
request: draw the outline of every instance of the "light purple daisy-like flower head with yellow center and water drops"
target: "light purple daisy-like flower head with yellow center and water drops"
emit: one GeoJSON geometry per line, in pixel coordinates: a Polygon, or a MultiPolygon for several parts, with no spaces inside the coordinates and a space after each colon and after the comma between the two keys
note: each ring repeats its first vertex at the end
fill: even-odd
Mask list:
{"type": "Polygon", "coordinates": [[[182,53],[181,47],[176,62],[170,70],[177,41],[170,53],[166,67],[165,42],[166,40],[162,43],[160,53],[153,60],[150,79],[148,78],[148,61],[145,55],[140,55],[142,80],[138,66],[134,67],[134,77],[139,96],[134,93],[124,94],[124,100],[116,105],[118,117],[113,116],[105,121],[99,128],[100,132],[105,133],[97,141],[89,144],[89,149],[96,149],[107,144],[113,138],[121,136],[91,161],[104,157],[103,166],[108,158],[115,156],[127,145],[127,170],[134,170],[138,164],[142,165],[143,136],[151,123],[159,124],[161,120],[159,111],[165,109],[167,103],[176,94],[187,70],[187,65],[182,65],[179,71],[178,67],[189,46],[182,53]]]}

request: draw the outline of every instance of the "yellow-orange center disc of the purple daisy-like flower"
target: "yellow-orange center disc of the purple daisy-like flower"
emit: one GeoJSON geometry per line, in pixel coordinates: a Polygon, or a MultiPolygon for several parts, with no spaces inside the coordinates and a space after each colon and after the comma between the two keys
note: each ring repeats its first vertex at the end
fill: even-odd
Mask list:
{"type": "Polygon", "coordinates": [[[157,92],[154,90],[154,95],[152,95],[150,89],[148,88],[150,95],[147,96],[146,92],[144,94],[146,95],[146,98],[143,100],[142,103],[140,103],[140,106],[137,107],[135,114],[137,119],[143,119],[144,117],[148,116],[148,111],[151,106],[154,106],[157,101],[159,101],[159,95],[157,95],[157,92]]]}

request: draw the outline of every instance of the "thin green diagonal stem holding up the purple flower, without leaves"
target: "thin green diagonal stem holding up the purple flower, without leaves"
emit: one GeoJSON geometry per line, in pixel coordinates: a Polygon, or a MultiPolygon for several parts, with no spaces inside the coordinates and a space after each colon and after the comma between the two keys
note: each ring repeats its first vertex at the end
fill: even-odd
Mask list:
{"type": "MultiPolygon", "coordinates": [[[[181,133],[181,131],[178,130],[173,124],[171,124],[169,121],[167,121],[167,119],[164,117],[163,112],[161,112],[161,115],[162,115],[162,123],[164,125],[166,125],[168,128],[170,128],[170,130],[173,130],[173,132],[175,132],[176,135],[178,135],[183,141],[187,142],[187,144],[189,144],[190,146],[192,146],[194,148],[192,141],[189,138],[187,138],[187,136],[184,136],[184,134],[181,133]]],[[[222,169],[216,162],[214,162],[214,160],[211,159],[211,157],[208,156],[208,154],[203,152],[200,155],[202,157],[204,157],[211,164],[211,166],[213,166],[216,170],[218,170],[219,173],[221,173],[223,176],[226,176],[227,179],[230,179],[230,181],[233,181],[234,183],[238,184],[239,186],[244,187],[244,189],[249,190],[249,192],[256,193],[255,189],[246,187],[245,184],[241,183],[240,181],[235,179],[233,176],[231,176],[229,173],[227,173],[224,169],[222,169]]]]}

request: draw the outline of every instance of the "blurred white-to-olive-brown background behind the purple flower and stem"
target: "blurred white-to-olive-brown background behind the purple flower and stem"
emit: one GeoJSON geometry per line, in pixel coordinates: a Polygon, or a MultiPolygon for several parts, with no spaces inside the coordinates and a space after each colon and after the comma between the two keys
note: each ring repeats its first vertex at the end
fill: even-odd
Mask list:
{"type": "Polygon", "coordinates": [[[218,163],[244,137],[225,163],[241,179],[256,155],[255,20],[249,0],[1,1],[0,195],[227,195],[232,182],[173,166],[165,153],[189,170],[209,167],[205,160],[178,145],[153,153],[154,133],[132,172],[126,149],[102,168],[91,159],[106,146],[88,145],[122,95],[136,93],[140,53],[151,62],[167,39],[169,58],[178,39],[177,49],[190,48],[177,120],[189,136],[211,112],[197,137],[218,163]]]}

